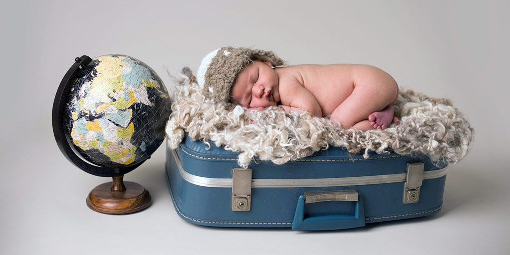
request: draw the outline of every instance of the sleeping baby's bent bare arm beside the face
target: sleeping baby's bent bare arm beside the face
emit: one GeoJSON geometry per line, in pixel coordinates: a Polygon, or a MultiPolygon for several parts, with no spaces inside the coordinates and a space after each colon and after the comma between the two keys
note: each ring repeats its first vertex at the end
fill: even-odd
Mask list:
{"type": "Polygon", "coordinates": [[[305,89],[295,78],[280,81],[279,87],[282,107],[286,112],[307,110],[314,116],[322,117],[319,102],[310,91],[305,89]]]}

